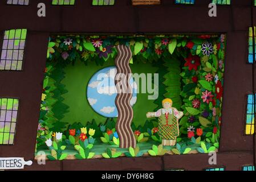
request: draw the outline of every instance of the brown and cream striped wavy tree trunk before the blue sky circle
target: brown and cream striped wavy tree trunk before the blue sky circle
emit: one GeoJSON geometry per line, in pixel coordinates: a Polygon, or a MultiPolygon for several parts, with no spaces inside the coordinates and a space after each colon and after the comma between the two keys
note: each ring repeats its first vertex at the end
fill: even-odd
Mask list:
{"type": "Polygon", "coordinates": [[[128,147],[136,147],[136,139],[133,135],[132,129],[131,129],[131,123],[133,118],[133,110],[132,106],[130,104],[131,98],[132,98],[132,87],[129,84],[129,79],[131,76],[129,76],[129,73],[131,73],[131,68],[129,67],[129,61],[132,57],[131,49],[124,45],[118,45],[116,46],[118,55],[115,59],[115,64],[117,67],[117,75],[116,75],[116,81],[115,84],[117,85],[121,80],[121,78],[118,76],[119,73],[124,74],[126,85],[123,85],[124,90],[119,88],[119,86],[116,87],[117,89],[117,97],[115,100],[115,104],[118,111],[118,118],[116,123],[116,131],[119,134],[119,140],[120,148],[128,148],[128,147]],[[124,91],[124,92],[123,92],[124,91]]]}

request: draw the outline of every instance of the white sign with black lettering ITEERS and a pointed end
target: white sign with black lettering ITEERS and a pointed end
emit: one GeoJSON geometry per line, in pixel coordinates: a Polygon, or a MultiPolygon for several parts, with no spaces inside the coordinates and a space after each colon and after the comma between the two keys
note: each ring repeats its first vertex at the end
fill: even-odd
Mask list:
{"type": "Polygon", "coordinates": [[[31,166],[32,161],[25,161],[24,158],[0,158],[0,170],[24,169],[24,166],[31,166]]]}

